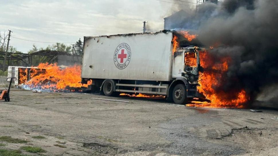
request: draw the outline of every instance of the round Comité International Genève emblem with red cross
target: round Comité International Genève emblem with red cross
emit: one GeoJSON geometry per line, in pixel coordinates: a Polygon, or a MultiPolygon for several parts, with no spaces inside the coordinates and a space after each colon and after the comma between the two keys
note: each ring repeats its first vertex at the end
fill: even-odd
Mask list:
{"type": "Polygon", "coordinates": [[[118,69],[128,66],[131,58],[130,46],[126,43],[120,44],[114,52],[114,64],[118,69]]]}

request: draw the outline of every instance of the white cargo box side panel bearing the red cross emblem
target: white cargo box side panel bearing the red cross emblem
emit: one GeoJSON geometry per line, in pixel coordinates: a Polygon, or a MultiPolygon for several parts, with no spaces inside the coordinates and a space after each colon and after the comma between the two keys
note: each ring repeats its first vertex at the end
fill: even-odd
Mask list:
{"type": "Polygon", "coordinates": [[[84,38],[82,78],[172,80],[172,33],[84,38]]]}

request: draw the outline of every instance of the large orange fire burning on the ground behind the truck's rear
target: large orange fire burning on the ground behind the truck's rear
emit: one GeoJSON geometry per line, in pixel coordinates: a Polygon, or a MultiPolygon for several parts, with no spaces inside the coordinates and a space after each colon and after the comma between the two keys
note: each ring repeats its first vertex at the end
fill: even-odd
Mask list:
{"type": "MultiPolygon", "coordinates": [[[[24,77],[25,74],[22,74],[24,77]]],[[[61,69],[57,64],[41,63],[30,69],[31,79],[25,84],[31,89],[61,90],[81,87],[81,66],[74,65],[61,69]]],[[[21,76],[20,78],[21,79],[21,76]]],[[[26,79],[25,77],[22,79],[26,79]]],[[[87,85],[84,85],[87,87],[87,85]]]]}

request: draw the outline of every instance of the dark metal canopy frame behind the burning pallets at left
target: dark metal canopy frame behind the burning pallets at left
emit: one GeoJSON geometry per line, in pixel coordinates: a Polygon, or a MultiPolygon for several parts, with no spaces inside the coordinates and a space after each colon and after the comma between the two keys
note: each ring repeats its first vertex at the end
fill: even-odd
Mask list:
{"type": "MultiPolygon", "coordinates": [[[[72,56],[72,54],[66,52],[52,51],[52,50],[41,50],[38,52],[34,52],[32,54],[8,52],[7,62],[8,62],[8,66],[32,66],[33,56],[42,56],[41,62],[53,63],[53,61],[59,55],[72,56]]],[[[0,51],[0,61],[1,60],[5,60],[5,52],[0,51]]],[[[0,63],[0,67],[3,67],[3,62],[0,63]]]]}

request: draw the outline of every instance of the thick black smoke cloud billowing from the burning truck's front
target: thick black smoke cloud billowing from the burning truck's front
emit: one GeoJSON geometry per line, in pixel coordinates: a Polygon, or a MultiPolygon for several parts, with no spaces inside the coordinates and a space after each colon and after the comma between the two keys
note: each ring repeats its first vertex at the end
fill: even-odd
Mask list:
{"type": "Polygon", "coordinates": [[[214,46],[210,52],[216,58],[231,58],[217,90],[244,89],[252,101],[278,83],[277,8],[277,0],[208,2],[198,8],[191,21],[194,26],[184,23],[183,29],[197,29],[204,46],[214,46]]]}

